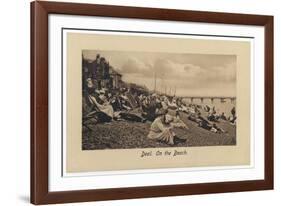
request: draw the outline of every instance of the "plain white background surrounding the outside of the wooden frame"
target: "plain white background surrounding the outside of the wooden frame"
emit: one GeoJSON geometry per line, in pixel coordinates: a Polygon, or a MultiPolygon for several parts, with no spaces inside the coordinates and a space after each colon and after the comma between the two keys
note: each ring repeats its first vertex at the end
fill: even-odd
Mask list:
{"type": "MultiPolygon", "coordinates": [[[[78,2],[78,0],[76,0],[78,2]]],[[[0,12],[0,205],[29,204],[29,0],[5,0],[0,12]]],[[[275,16],[275,190],[77,203],[70,205],[280,205],[281,6],[278,0],[80,0],[79,2],[275,16]]]]}

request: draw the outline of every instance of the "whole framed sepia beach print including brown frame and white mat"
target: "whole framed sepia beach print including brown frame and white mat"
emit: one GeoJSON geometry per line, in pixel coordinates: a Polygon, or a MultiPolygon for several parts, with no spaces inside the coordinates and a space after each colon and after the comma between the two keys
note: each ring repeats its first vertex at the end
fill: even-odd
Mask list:
{"type": "Polygon", "coordinates": [[[273,17],[31,3],[31,202],[273,189],[273,17]]]}

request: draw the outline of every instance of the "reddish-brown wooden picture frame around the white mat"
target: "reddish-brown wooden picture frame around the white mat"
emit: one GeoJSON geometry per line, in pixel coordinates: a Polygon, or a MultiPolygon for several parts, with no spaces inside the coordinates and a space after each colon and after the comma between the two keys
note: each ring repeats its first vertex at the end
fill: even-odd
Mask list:
{"type": "Polygon", "coordinates": [[[33,204],[163,197],[273,189],[273,17],[92,4],[31,3],[31,202],[33,204]],[[189,21],[265,28],[264,180],[49,192],[48,190],[48,15],[84,15],[189,21]]]}

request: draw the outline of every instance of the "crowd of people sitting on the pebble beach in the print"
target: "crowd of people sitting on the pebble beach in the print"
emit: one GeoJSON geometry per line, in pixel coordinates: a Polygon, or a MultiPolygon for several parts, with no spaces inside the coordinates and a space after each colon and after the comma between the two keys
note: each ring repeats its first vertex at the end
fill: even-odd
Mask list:
{"type": "Polygon", "coordinates": [[[92,77],[83,78],[83,125],[112,121],[150,122],[149,139],[173,145],[179,139],[173,128],[188,129],[181,120],[185,113],[188,120],[214,133],[225,133],[219,121],[236,123],[235,107],[230,117],[217,112],[215,107],[187,103],[183,98],[142,91],[137,88],[107,88],[94,84],[92,77]],[[172,115],[174,114],[174,115],[172,115]],[[204,115],[203,115],[204,114],[204,115]]]}

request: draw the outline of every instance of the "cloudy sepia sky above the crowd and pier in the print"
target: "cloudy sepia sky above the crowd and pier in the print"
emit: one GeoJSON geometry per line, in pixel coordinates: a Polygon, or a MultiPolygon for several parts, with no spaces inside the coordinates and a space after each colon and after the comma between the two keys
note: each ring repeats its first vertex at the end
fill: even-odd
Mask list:
{"type": "Polygon", "coordinates": [[[236,96],[236,55],[83,50],[100,54],[125,82],[177,96],[236,96]],[[156,77],[156,78],[155,78],[156,77]]]}

